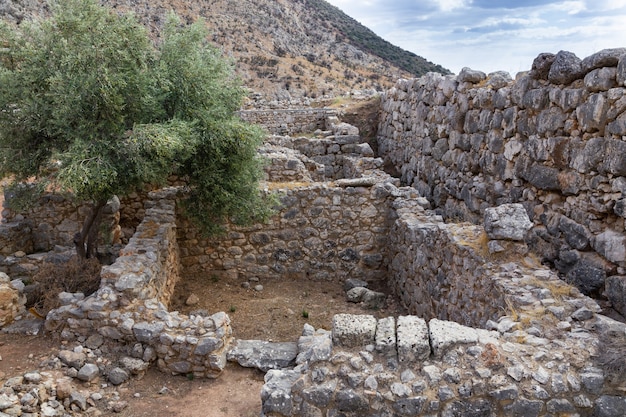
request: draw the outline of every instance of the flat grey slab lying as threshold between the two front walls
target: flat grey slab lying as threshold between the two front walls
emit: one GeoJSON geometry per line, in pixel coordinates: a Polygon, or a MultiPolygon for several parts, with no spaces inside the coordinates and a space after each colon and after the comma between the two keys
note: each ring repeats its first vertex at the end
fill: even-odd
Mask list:
{"type": "Polygon", "coordinates": [[[298,355],[296,342],[266,342],[264,340],[237,340],[226,354],[226,359],[245,368],[263,372],[295,365],[298,355]]]}

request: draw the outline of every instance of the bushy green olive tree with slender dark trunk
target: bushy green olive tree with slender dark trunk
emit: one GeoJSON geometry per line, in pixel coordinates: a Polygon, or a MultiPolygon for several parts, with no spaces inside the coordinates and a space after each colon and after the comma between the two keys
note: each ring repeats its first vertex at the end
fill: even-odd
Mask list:
{"type": "Polygon", "coordinates": [[[50,18],[0,26],[0,176],[89,201],[79,255],[94,255],[111,197],[173,173],[205,231],[269,214],[262,132],[235,115],[245,90],[206,39],[202,22],[170,16],[153,42],[134,16],[95,0],[60,0],[50,18]]]}

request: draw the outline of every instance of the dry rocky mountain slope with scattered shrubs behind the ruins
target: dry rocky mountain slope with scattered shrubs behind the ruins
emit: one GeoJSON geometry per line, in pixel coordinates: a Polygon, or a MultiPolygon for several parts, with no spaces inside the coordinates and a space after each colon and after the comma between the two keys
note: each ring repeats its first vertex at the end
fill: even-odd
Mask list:
{"type": "MultiPolygon", "coordinates": [[[[380,90],[398,78],[448,73],[384,41],[324,0],[102,0],[133,11],[158,37],[167,14],[205,20],[257,100],[295,101],[380,90]]],[[[0,0],[0,16],[21,22],[49,12],[38,0],[0,0]]]]}

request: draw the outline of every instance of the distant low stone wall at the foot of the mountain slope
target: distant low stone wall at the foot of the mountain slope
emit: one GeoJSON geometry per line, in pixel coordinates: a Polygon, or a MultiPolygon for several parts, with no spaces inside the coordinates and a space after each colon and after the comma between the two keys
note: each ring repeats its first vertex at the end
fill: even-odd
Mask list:
{"type": "Polygon", "coordinates": [[[248,123],[263,126],[273,135],[294,135],[313,133],[316,130],[329,130],[329,117],[337,112],[332,109],[288,109],[288,110],[241,110],[241,119],[248,123]]]}

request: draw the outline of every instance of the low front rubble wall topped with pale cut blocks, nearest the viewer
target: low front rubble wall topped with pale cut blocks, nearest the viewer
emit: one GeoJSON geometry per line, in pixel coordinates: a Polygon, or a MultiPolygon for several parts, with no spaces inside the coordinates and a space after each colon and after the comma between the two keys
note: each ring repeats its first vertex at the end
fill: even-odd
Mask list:
{"type": "Polygon", "coordinates": [[[337,315],[332,348],[309,331],[298,365],[266,374],[261,416],[622,416],[626,399],[589,352],[598,339],[585,329],[604,320],[548,341],[416,316],[337,315]]]}

